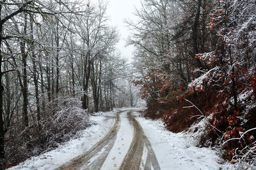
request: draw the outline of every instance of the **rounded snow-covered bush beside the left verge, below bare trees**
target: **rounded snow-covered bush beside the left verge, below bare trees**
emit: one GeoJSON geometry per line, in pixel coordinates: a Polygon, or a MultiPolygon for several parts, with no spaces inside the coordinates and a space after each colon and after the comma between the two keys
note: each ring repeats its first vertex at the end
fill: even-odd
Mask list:
{"type": "Polygon", "coordinates": [[[82,109],[79,98],[59,99],[60,104],[49,108],[49,114],[42,121],[42,135],[50,143],[67,141],[74,136],[78,130],[90,126],[88,113],[82,109]]]}

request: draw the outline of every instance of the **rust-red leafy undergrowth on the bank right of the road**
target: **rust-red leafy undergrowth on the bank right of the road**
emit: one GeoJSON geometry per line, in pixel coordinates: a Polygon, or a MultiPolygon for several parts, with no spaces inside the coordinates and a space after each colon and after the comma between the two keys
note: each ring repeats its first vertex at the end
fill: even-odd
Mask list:
{"type": "Polygon", "coordinates": [[[189,129],[192,133],[205,130],[198,139],[199,146],[222,148],[224,159],[256,166],[256,130],[253,130],[256,127],[256,95],[252,88],[243,88],[238,92],[238,110],[234,109],[231,94],[219,93],[217,88],[212,88],[205,92],[184,93],[181,100],[180,97],[149,100],[146,116],[163,118],[166,128],[175,133],[188,130],[207,117],[204,129],[189,129]],[[204,115],[185,99],[193,101],[204,115]]]}

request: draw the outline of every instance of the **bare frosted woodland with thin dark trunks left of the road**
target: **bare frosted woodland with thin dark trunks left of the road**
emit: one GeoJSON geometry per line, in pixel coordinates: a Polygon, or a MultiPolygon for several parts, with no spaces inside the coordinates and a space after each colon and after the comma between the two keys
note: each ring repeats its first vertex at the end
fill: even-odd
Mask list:
{"type": "Polygon", "coordinates": [[[136,105],[106,10],[105,1],[0,2],[1,169],[67,141],[90,126],[89,112],[136,105]]]}

